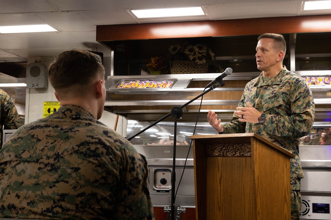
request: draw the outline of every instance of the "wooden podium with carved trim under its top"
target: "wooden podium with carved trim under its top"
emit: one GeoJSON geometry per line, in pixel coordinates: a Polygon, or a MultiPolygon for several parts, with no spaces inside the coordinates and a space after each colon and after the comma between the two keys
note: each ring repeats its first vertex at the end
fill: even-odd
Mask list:
{"type": "Polygon", "coordinates": [[[255,133],[194,135],[196,219],[290,220],[290,158],[255,133]]]}

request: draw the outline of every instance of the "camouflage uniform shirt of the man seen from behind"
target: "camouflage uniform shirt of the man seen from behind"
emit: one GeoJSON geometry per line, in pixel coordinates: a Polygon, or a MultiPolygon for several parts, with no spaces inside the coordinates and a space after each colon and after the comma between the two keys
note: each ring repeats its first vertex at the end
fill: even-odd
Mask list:
{"type": "Polygon", "coordinates": [[[0,187],[0,217],[154,219],[145,157],[75,105],[10,137],[0,187]]]}

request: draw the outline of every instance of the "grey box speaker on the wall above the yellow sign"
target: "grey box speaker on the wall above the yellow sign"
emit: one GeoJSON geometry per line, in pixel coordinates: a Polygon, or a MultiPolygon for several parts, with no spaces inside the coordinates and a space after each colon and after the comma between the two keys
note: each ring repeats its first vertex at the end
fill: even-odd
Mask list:
{"type": "Polygon", "coordinates": [[[47,88],[47,68],[41,63],[29,63],[26,67],[26,88],[47,88]]]}

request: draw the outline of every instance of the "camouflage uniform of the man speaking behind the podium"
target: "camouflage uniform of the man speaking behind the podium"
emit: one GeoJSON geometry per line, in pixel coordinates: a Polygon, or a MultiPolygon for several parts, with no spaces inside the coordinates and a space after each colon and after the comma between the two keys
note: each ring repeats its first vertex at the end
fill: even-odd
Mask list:
{"type": "Polygon", "coordinates": [[[300,179],[304,177],[299,157],[300,137],[309,134],[315,117],[312,93],[300,76],[283,69],[277,76],[264,82],[262,73],[246,84],[238,106],[247,102],[265,114],[260,123],[240,122],[233,115],[223,126],[223,133],[254,132],[295,155],[291,159],[291,214],[292,220],[300,219],[300,179]]]}

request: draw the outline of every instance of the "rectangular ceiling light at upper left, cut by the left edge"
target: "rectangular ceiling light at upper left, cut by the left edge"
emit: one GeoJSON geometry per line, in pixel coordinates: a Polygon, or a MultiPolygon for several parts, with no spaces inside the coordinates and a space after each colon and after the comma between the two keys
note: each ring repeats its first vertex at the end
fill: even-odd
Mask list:
{"type": "Polygon", "coordinates": [[[49,32],[57,31],[48,24],[33,24],[33,25],[13,25],[13,26],[0,26],[0,33],[31,33],[31,32],[49,32]]]}

